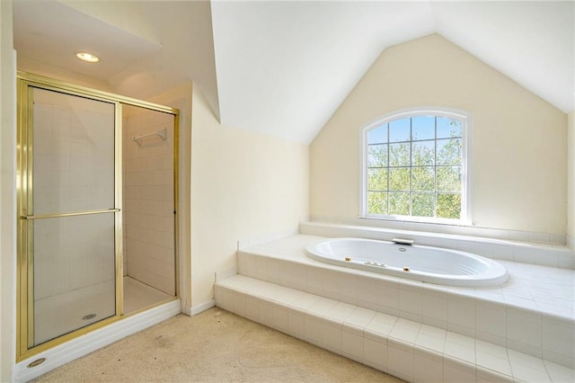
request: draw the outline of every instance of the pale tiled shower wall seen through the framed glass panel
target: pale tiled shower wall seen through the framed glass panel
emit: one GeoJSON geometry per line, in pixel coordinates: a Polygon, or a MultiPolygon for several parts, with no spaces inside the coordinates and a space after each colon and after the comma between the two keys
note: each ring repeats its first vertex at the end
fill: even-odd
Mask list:
{"type": "MultiPolygon", "coordinates": [[[[41,90],[34,98],[34,214],[113,208],[113,107],[41,90]]],[[[35,298],[113,278],[101,219],[35,223],[35,298]]]]}

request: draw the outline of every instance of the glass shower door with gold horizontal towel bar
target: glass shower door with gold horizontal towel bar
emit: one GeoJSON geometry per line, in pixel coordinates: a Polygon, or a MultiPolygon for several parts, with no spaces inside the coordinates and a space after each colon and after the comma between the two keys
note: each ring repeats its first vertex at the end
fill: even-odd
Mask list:
{"type": "Polygon", "coordinates": [[[114,102],[29,88],[28,348],[116,315],[114,102]]]}

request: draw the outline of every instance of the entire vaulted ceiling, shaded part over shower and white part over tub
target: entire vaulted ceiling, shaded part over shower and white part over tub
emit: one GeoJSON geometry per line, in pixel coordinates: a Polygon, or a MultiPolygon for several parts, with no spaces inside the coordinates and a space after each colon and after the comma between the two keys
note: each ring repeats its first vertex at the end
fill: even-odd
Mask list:
{"type": "Polygon", "coordinates": [[[558,109],[575,2],[14,0],[19,59],[138,98],[192,80],[223,124],[311,142],[381,52],[438,33],[558,109]],[[75,51],[100,56],[85,64],[75,51]]]}

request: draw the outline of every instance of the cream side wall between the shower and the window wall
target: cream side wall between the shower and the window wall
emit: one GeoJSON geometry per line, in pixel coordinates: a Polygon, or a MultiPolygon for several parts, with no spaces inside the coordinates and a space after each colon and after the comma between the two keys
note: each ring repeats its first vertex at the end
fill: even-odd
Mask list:
{"type": "MultiPolygon", "coordinates": [[[[236,241],[295,231],[308,214],[308,147],[218,123],[194,87],[191,246],[194,306],[213,299],[214,272],[236,241]]],[[[254,111],[257,112],[257,111],[254,111]]]]}

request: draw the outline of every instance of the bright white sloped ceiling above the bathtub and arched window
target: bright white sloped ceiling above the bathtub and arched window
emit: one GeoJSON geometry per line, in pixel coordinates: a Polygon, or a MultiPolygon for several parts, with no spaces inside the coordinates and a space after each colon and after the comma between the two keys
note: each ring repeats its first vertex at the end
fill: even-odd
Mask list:
{"type": "Polygon", "coordinates": [[[212,3],[221,119],[311,142],[381,52],[437,32],[574,107],[573,2],[212,3]]]}

